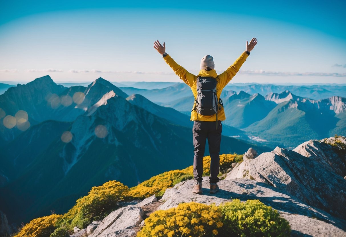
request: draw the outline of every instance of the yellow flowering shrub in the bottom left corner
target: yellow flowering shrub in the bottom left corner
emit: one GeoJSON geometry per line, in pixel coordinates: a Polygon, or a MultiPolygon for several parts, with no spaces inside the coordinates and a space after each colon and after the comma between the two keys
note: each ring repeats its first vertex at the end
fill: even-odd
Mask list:
{"type": "Polygon", "coordinates": [[[50,215],[31,220],[15,237],[49,237],[55,230],[55,222],[62,218],[62,215],[50,215]]]}

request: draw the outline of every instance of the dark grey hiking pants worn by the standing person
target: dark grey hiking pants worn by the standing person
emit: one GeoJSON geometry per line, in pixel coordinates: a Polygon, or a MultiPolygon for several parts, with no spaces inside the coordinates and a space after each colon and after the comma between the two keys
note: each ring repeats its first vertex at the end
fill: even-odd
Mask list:
{"type": "Polygon", "coordinates": [[[216,129],[216,122],[194,121],[193,123],[193,175],[196,181],[202,182],[203,179],[203,156],[207,138],[211,158],[209,183],[217,183],[220,181],[217,177],[220,171],[220,143],[222,131],[220,120],[217,125],[218,129],[216,129]]]}

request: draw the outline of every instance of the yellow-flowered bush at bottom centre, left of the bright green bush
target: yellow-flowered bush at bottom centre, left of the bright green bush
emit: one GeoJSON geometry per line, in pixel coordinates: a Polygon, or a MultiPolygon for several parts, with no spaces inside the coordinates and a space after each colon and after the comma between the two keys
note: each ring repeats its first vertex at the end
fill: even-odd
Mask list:
{"type": "Polygon", "coordinates": [[[221,211],[215,205],[197,202],[180,203],[177,207],[157,210],[144,220],[145,225],[137,237],[194,237],[216,236],[221,211]]]}

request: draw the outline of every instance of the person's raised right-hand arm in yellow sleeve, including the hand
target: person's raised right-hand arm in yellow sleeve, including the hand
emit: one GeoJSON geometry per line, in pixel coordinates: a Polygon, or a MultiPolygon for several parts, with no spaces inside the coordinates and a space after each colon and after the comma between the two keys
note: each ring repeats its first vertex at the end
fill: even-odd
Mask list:
{"type": "Polygon", "coordinates": [[[252,38],[250,44],[248,41],[246,41],[246,50],[244,50],[244,52],[239,56],[239,58],[235,60],[234,63],[229,68],[227,68],[225,72],[219,75],[221,88],[224,88],[229,83],[229,81],[237,74],[240,67],[243,65],[246,58],[248,57],[246,51],[250,52],[251,50],[253,50],[256,44],[256,38],[252,38]]]}

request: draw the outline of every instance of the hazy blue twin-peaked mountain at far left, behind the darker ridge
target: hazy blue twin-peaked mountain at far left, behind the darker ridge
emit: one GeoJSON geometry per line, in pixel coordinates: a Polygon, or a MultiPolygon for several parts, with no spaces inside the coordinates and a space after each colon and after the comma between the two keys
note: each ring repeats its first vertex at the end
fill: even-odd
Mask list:
{"type": "MultiPolygon", "coordinates": [[[[30,125],[46,120],[74,121],[110,91],[123,98],[128,97],[118,87],[101,77],[88,87],[66,88],[55,84],[51,77],[44,76],[25,85],[18,84],[16,87],[10,87],[8,91],[0,95],[0,108],[6,115],[12,116],[15,116],[19,110],[24,111],[23,113],[26,113],[28,117],[27,126],[25,126],[27,129],[30,125]]],[[[0,123],[2,132],[0,141],[6,144],[13,140],[24,130],[19,125],[8,129],[0,123]]]]}

